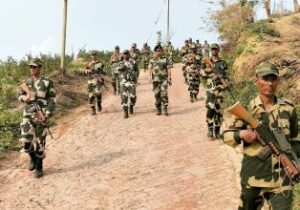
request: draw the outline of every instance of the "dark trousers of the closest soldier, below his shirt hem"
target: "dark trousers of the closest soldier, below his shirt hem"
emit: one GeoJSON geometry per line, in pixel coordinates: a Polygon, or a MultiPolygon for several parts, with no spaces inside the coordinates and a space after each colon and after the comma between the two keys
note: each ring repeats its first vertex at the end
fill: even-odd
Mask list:
{"type": "Polygon", "coordinates": [[[293,193],[291,190],[283,192],[265,192],[262,188],[242,185],[239,210],[260,210],[264,204],[264,198],[270,204],[272,210],[291,210],[293,193]]]}

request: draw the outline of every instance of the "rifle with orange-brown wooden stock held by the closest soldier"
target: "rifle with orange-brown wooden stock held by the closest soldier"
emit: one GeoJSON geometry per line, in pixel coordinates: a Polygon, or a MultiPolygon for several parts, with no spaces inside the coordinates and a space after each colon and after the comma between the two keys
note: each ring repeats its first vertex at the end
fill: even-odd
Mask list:
{"type": "Polygon", "coordinates": [[[238,118],[246,121],[251,126],[251,128],[253,128],[259,134],[258,141],[262,144],[262,146],[268,146],[271,149],[272,154],[279,157],[279,161],[283,165],[288,177],[292,181],[298,183],[300,181],[299,170],[278,146],[276,138],[269,130],[269,128],[265,125],[262,125],[258,120],[253,118],[252,115],[244,108],[244,106],[240,102],[235,103],[228,109],[228,111],[238,118]]]}

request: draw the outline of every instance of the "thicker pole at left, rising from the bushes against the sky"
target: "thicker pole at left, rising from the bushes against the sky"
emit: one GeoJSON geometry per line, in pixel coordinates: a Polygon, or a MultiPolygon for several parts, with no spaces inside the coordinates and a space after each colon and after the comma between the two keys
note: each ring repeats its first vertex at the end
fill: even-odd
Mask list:
{"type": "Polygon", "coordinates": [[[60,60],[60,69],[63,76],[66,75],[65,56],[66,56],[67,16],[68,16],[68,0],[64,0],[62,47],[61,47],[61,60],[60,60]]]}

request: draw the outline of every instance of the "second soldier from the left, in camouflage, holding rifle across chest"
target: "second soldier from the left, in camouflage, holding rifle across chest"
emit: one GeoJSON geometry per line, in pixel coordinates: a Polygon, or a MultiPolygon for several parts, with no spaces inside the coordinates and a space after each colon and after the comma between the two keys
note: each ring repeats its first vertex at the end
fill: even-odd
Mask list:
{"type": "Polygon", "coordinates": [[[87,81],[87,89],[89,94],[89,103],[91,114],[96,114],[96,106],[98,112],[102,111],[102,92],[104,90],[104,64],[98,60],[97,52],[91,52],[92,60],[86,65],[86,73],[89,77],[87,81]],[[97,104],[96,104],[97,103],[97,104]]]}

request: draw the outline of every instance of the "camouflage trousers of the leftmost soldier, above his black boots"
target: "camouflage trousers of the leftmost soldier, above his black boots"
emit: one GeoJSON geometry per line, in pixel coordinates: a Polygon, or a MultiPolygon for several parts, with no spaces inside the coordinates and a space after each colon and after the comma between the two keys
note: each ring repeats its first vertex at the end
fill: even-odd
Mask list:
{"type": "Polygon", "coordinates": [[[26,153],[34,152],[36,157],[45,157],[47,130],[42,124],[33,124],[29,118],[23,118],[20,124],[20,142],[26,153]]]}

